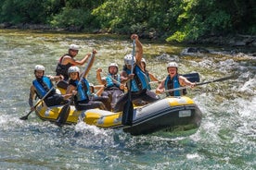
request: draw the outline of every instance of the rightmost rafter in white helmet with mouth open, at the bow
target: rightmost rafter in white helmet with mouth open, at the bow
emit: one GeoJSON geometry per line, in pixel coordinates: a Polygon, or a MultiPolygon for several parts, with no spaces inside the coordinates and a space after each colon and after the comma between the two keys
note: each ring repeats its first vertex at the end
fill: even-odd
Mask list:
{"type": "MultiPolygon", "coordinates": [[[[178,64],[176,62],[170,62],[167,64],[167,72],[169,75],[161,81],[156,90],[156,93],[163,93],[165,90],[173,90],[180,88],[181,86],[190,86],[192,88],[196,86],[195,82],[190,82],[188,79],[178,74],[178,64]]],[[[186,89],[179,91],[169,91],[168,95],[186,95],[186,89]]]]}

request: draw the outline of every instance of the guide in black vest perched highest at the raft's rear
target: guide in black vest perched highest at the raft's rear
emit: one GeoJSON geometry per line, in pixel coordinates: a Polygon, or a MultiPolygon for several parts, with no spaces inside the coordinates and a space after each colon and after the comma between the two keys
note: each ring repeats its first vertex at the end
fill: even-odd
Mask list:
{"type": "Polygon", "coordinates": [[[58,83],[58,87],[62,89],[67,89],[68,87],[68,80],[69,80],[69,75],[68,75],[68,70],[71,66],[83,66],[83,64],[87,61],[87,59],[91,56],[90,54],[87,54],[83,57],[82,60],[75,60],[74,57],[78,54],[79,52],[79,45],[76,44],[70,44],[69,47],[69,53],[62,55],[59,60],[58,60],[58,65],[56,67],[56,75],[62,75],[64,76],[64,80],[60,81],[58,83]]]}

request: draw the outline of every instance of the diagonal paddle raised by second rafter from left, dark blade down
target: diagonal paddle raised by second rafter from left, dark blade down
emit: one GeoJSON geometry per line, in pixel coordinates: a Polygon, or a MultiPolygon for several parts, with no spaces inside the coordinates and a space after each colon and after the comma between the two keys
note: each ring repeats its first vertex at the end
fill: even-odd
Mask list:
{"type": "MultiPolygon", "coordinates": [[[[92,66],[92,61],[93,61],[94,57],[95,57],[95,54],[92,53],[92,56],[91,56],[88,64],[86,65],[86,67],[85,67],[85,69],[83,71],[83,74],[81,75],[78,83],[80,83],[82,81],[83,77],[88,74],[89,67],[92,66]]],[[[66,103],[61,108],[61,110],[59,112],[59,115],[58,115],[58,118],[56,120],[56,125],[58,125],[58,127],[61,127],[62,124],[66,123],[66,121],[67,121],[67,119],[68,119],[68,117],[70,115],[70,104],[73,102],[73,99],[74,99],[74,95],[71,96],[69,103],[66,103]]]]}

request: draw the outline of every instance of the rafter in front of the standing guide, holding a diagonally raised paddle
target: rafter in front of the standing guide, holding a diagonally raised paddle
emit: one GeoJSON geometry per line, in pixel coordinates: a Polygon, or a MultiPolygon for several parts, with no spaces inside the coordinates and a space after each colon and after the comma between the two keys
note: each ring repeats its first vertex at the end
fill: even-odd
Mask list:
{"type": "Polygon", "coordinates": [[[102,110],[110,110],[110,100],[108,96],[92,97],[90,83],[84,74],[80,81],[79,67],[70,67],[68,74],[70,77],[69,86],[66,91],[66,97],[74,95],[74,105],[76,110],[87,110],[99,108],[102,110]],[[106,105],[105,105],[106,104],[106,105]]]}

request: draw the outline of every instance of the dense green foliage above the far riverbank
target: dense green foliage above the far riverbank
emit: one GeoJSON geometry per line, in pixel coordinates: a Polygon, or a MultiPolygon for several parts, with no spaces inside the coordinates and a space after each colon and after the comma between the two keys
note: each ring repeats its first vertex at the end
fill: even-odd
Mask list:
{"type": "Polygon", "coordinates": [[[1,0],[0,22],[153,34],[183,42],[256,34],[255,0],[1,0]]]}

